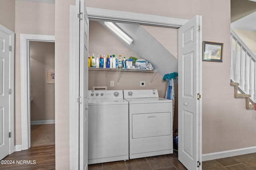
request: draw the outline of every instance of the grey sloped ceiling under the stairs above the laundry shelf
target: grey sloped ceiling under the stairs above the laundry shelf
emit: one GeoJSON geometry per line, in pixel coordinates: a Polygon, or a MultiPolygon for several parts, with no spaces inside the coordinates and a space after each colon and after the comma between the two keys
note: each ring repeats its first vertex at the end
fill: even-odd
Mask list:
{"type": "MultiPolygon", "coordinates": [[[[107,30],[104,21],[98,21],[107,30]]],[[[116,23],[123,31],[134,39],[131,45],[125,43],[120,37],[110,31],[132,52],[136,53],[141,59],[152,63],[154,69],[158,70],[160,76],[164,74],[178,72],[178,60],[166,48],[163,47],[146,29],[139,24],[116,23]]]]}

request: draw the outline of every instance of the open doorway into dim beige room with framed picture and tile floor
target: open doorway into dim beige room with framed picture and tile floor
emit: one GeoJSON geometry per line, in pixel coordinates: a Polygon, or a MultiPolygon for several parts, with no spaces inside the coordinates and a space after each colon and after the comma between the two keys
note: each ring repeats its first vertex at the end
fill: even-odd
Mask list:
{"type": "Polygon", "coordinates": [[[55,43],[30,41],[31,147],[55,144],[55,43]]]}

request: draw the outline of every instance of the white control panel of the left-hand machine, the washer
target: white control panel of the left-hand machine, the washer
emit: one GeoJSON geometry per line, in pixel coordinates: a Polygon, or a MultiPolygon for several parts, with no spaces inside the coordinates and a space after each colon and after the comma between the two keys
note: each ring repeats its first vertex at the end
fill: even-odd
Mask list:
{"type": "Polygon", "coordinates": [[[88,90],[88,99],[123,99],[123,90],[88,90]]]}

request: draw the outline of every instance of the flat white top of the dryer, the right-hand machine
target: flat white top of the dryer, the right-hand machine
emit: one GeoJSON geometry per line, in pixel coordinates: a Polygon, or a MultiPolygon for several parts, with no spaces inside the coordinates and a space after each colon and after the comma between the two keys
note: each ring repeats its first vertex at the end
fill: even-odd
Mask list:
{"type": "Polygon", "coordinates": [[[127,98],[129,104],[144,104],[144,103],[172,103],[172,100],[164,98],[127,98]]]}

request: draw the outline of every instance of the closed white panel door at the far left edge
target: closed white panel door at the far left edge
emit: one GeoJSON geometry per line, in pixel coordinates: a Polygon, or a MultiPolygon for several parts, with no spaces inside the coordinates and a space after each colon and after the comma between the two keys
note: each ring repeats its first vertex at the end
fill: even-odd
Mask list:
{"type": "Polygon", "coordinates": [[[10,35],[0,30],[0,160],[9,154],[10,35]]]}

